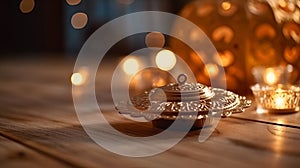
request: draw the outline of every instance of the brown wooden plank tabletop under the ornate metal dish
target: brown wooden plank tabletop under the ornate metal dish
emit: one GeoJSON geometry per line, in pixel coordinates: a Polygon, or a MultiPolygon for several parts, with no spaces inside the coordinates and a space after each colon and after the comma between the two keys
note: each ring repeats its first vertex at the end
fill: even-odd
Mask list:
{"type": "MultiPolygon", "coordinates": [[[[0,61],[0,167],[300,167],[300,113],[257,114],[255,104],[222,118],[203,143],[196,130],[155,156],[111,153],[94,143],[78,121],[72,70],[67,60],[0,61]]],[[[109,111],[103,113],[121,131],[158,131],[109,111]]]]}

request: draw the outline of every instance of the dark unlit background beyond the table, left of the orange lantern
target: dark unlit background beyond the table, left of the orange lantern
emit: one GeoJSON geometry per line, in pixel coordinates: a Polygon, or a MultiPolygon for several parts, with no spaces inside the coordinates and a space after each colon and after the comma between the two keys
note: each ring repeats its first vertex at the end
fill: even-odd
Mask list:
{"type": "MultiPolygon", "coordinates": [[[[20,11],[20,2],[1,2],[1,57],[35,53],[75,56],[91,33],[114,18],[144,10],[178,13],[188,1],[135,0],[130,5],[124,5],[117,0],[82,0],[78,5],[71,6],[64,0],[36,0],[30,13],[20,11]],[[88,24],[83,29],[74,29],[71,25],[71,17],[76,12],[88,15],[88,24]]],[[[125,39],[114,53],[118,54],[117,49],[124,48],[124,45],[128,50],[142,47],[139,42],[128,44],[125,39]]]]}

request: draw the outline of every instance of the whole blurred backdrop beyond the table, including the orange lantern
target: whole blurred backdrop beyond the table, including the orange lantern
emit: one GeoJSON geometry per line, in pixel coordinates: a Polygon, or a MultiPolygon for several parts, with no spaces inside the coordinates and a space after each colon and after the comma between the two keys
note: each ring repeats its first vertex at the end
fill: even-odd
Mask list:
{"type": "MultiPolygon", "coordinates": [[[[124,14],[156,10],[178,14],[199,26],[218,53],[201,55],[161,33],[150,46],[165,47],[182,57],[197,81],[210,85],[225,69],[229,90],[249,94],[256,67],[284,67],[288,83],[300,79],[299,0],[15,0],[1,2],[0,54],[3,58],[58,57],[75,60],[86,39],[108,21],[124,14]],[[162,40],[162,41],[160,41],[162,40]],[[219,56],[204,65],[199,56],[219,56]],[[288,67],[288,68],[285,68],[288,67]]],[[[122,28],[120,28],[122,29],[122,28]]],[[[107,57],[116,58],[148,47],[147,33],[115,44],[107,57]]],[[[197,34],[185,33],[192,41],[197,34]]]]}

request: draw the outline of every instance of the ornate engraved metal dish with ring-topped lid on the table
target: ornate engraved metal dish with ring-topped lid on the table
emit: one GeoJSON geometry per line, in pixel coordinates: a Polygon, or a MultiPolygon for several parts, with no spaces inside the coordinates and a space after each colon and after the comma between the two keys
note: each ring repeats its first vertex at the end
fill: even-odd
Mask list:
{"type": "Polygon", "coordinates": [[[120,103],[117,109],[120,113],[145,117],[148,120],[202,119],[213,117],[212,115],[230,116],[232,113],[243,112],[244,108],[251,104],[251,101],[233,92],[220,88],[209,88],[202,84],[169,84],[160,89],[167,95],[166,101],[159,98],[163,97],[164,93],[154,89],[133,97],[131,102],[120,103]],[[195,96],[196,94],[200,96],[195,96]],[[155,95],[154,99],[153,95],[155,95]],[[169,98],[170,96],[171,98],[169,98]],[[179,101],[180,97],[182,101],[179,101]],[[184,97],[188,97],[188,99],[184,97]],[[169,101],[170,99],[173,101],[169,101]]]}

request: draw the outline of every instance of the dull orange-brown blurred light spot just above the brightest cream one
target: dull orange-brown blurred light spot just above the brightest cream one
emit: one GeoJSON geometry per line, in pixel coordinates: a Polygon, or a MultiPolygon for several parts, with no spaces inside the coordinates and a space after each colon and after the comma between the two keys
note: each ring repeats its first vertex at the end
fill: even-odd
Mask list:
{"type": "Polygon", "coordinates": [[[151,32],[146,35],[145,43],[147,47],[162,48],[165,45],[165,36],[160,32],[151,32]]]}

